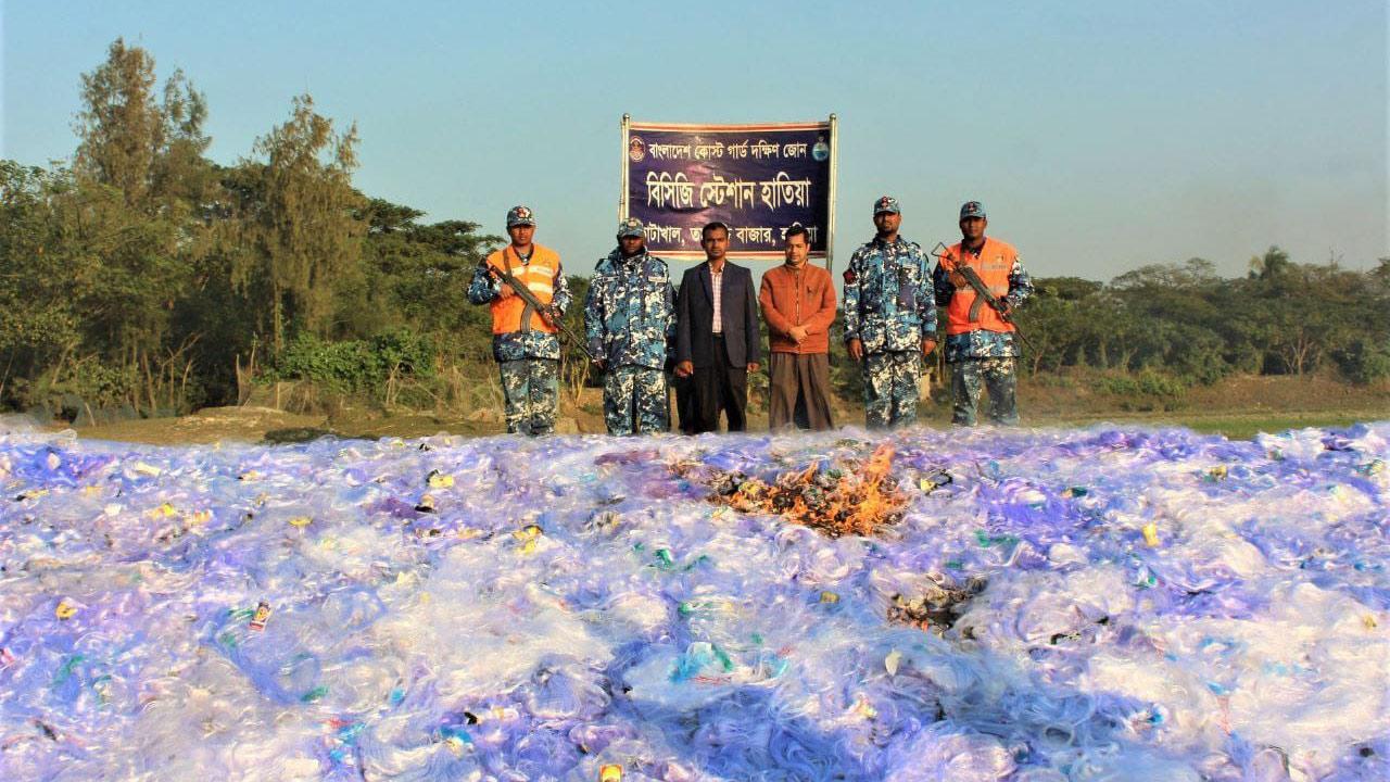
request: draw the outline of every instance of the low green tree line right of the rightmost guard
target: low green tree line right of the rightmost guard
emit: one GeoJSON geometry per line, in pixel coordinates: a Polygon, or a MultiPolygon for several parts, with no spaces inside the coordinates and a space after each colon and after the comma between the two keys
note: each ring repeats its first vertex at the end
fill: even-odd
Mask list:
{"type": "Polygon", "coordinates": [[[1034,345],[1024,356],[1034,374],[1084,366],[1191,384],[1330,370],[1375,383],[1390,377],[1390,257],[1357,271],[1298,264],[1272,246],[1237,278],[1198,257],[1109,284],[1042,278],[1019,324],[1034,345]]]}

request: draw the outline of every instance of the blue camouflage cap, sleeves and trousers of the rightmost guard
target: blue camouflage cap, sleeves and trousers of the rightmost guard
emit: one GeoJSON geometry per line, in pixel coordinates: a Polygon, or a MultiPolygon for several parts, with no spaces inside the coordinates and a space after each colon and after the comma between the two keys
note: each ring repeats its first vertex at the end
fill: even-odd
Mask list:
{"type": "MultiPolygon", "coordinates": [[[[969,202],[960,209],[960,216],[984,217],[984,207],[979,202],[969,202]]],[[[951,271],[938,263],[933,280],[937,305],[948,306],[951,296],[955,295],[951,271]]],[[[1033,281],[1024,271],[1023,263],[1015,259],[1009,269],[1009,292],[1004,301],[1011,310],[1017,310],[1030,295],[1033,295],[1033,281]]],[[[990,395],[990,422],[1002,426],[1019,423],[1016,372],[1019,348],[1013,333],[977,328],[965,334],[948,334],[945,355],[947,363],[951,365],[952,423],[976,424],[981,391],[990,395]]]]}

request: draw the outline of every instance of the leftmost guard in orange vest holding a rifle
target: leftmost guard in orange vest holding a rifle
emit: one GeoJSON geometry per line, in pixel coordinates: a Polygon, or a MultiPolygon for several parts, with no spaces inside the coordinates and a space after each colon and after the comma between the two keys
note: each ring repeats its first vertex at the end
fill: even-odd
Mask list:
{"type": "Polygon", "coordinates": [[[560,256],[534,244],[535,213],[507,212],[512,244],[491,253],[473,274],[468,301],[492,310],[492,358],[502,374],[509,433],[555,431],[560,405],[560,319],[570,306],[570,285],[560,256]],[[539,312],[506,281],[510,276],[541,305],[539,312]]]}

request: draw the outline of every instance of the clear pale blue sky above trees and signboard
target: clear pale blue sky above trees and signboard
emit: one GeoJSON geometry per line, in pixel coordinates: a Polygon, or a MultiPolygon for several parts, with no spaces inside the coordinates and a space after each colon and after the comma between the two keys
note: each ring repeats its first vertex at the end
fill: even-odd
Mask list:
{"type": "Polygon", "coordinates": [[[837,249],[903,205],[954,239],[960,202],[1038,276],[1095,280],[1277,244],[1390,255],[1384,0],[1165,3],[6,1],[3,147],[72,153],[79,75],[117,36],[207,95],[232,163],[311,93],[356,121],[356,184],[538,241],[613,245],[619,121],[840,117],[837,249]],[[1049,7],[1051,6],[1051,7],[1049,7]]]}

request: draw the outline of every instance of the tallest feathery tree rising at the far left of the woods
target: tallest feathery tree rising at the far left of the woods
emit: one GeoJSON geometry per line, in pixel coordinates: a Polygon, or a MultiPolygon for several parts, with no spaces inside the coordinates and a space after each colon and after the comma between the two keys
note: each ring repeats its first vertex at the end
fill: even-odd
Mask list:
{"type": "MultiPolygon", "coordinates": [[[[82,75],[76,181],[54,202],[68,260],[96,270],[72,291],[83,313],[82,349],[142,378],[143,402],[131,399],[138,408],[164,405],[152,391],[156,376],[199,338],[181,334],[172,340],[181,346],[171,348],[171,320],[189,288],[206,282],[199,266],[215,237],[206,212],[220,200],[203,157],[206,100],[181,71],[165,82],[163,100],[154,83],[154,58],[122,39],[82,75]]],[[[178,360],[186,370],[186,356],[178,360]]]]}

